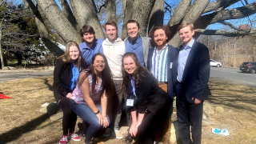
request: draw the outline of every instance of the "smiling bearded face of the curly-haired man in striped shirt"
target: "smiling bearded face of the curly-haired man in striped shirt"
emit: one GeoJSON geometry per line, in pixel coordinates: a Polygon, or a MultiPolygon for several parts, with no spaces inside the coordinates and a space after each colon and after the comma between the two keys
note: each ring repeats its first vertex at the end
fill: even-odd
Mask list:
{"type": "Polygon", "coordinates": [[[154,31],[154,43],[157,47],[163,48],[166,46],[166,40],[167,36],[165,30],[158,29],[154,31]]]}

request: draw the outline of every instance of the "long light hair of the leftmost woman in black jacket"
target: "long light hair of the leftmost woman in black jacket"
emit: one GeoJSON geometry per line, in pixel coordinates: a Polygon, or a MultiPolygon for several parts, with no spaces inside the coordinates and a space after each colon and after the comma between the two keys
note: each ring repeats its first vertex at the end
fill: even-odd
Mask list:
{"type": "Polygon", "coordinates": [[[82,58],[81,50],[79,49],[78,43],[74,41],[67,42],[65,53],[60,56],[62,61],[65,63],[70,63],[70,46],[77,46],[79,51],[78,59],[74,62],[74,65],[78,67],[79,71],[82,71],[86,68],[86,61],[82,58]]]}

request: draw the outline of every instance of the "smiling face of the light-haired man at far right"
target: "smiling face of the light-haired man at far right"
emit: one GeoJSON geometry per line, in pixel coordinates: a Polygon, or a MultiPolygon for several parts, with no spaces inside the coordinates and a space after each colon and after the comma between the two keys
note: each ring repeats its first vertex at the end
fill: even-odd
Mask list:
{"type": "Polygon", "coordinates": [[[190,26],[186,26],[183,27],[181,30],[178,30],[178,34],[183,44],[187,46],[193,40],[194,30],[191,30],[190,26]]]}

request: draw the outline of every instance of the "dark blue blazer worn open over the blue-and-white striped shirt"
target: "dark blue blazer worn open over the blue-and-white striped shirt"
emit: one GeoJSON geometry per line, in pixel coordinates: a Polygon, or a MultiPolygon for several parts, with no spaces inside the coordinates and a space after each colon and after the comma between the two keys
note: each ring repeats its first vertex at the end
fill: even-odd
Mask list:
{"type": "MultiPolygon", "coordinates": [[[[154,47],[150,48],[149,50],[149,56],[147,60],[147,69],[151,70],[152,68],[152,57],[153,57],[154,47]]],[[[174,48],[174,46],[168,45],[168,62],[167,62],[167,93],[170,95],[170,97],[174,98],[174,86],[173,86],[173,72],[172,72],[172,66],[173,61],[175,59],[175,54],[177,52],[177,49],[174,48]]]]}

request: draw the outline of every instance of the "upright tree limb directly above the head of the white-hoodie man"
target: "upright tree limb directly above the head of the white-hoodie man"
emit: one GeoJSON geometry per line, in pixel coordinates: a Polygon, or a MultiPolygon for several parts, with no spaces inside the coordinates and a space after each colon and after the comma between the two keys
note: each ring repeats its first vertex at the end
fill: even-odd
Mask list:
{"type": "Polygon", "coordinates": [[[106,22],[108,21],[118,22],[115,0],[106,0],[106,22]]]}

